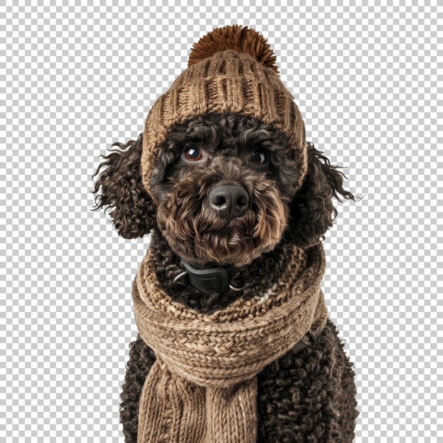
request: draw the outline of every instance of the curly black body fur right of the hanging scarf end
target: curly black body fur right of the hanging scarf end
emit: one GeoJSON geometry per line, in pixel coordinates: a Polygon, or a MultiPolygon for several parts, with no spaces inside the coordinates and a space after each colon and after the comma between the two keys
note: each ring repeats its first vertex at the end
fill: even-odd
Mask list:
{"type": "Polygon", "coordinates": [[[328,320],[316,343],[258,374],[258,442],[346,443],[354,438],[355,373],[328,320]]]}

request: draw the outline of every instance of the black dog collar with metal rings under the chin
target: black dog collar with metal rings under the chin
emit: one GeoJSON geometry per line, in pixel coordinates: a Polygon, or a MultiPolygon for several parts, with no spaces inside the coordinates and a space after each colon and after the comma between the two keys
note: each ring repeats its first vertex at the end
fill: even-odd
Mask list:
{"type": "Polygon", "coordinates": [[[224,267],[195,269],[195,267],[192,267],[186,260],[180,260],[180,265],[182,265],[184,270],[174,278],[174,283],[186,286],[186,284],[180,282],[180,279],[188,275],[190,284],[207,294],[212,292],[226,292],[229,291],[229,289],[237,292],[243,290],[243,287],[236,288],[229,284],[229,275],[224,267]]]}

